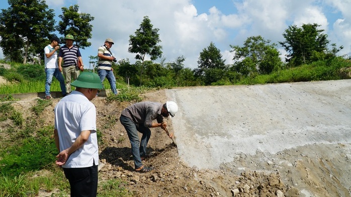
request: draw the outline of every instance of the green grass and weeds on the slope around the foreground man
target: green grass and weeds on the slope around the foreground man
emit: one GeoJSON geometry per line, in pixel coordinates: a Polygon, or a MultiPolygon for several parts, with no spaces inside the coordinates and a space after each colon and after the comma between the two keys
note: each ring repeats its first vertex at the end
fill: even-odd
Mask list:
{"type": "MultiPolygon", "coordinates": [[[[53,126],[42,125],[44,121],[37,116],[51,102],[38,99],[31,108],[34,116],[26,120],[12,104],[11,101],[0,103],[0,122],[14,123],[0,129],[0,133],[7,136],[0,137],[0,197],[34,197],[40,191],[53,192],[51,196],[69,196],[69,182],[62,169],[54,164],[57,150],[53,126]]],[[[112,127],[116,117],[108,118],[111,119],[108,127],[112,127]]],[[[102,137],[103,133],[98,131],[100,145],[102,137]]],[[[123,187],[125,184],[121,179],[99,181],[98,196],[133,196],[123,187]]]]}

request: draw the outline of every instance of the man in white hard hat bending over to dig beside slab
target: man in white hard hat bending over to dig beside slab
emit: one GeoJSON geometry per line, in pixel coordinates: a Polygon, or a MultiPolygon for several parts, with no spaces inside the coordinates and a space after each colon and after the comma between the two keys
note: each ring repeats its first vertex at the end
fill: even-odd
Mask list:
{"type": "MultiPolygon", "coordinates": [[[[167,123],[163,117],[173,117],[178,112],[178,106],[172,101],[165,104],[157,102],[140,102],[122,111],[120,121],[127,131],[136,172],[149,172],[151,167],[144,166],[142,160],[146,157],[146,146],[151,136],[150,128],[166,129],[167,123]],[[157,120],[153,122],[153,120],[157,120]],[[142,133],[141,141],[138,132],[142,133]]],[[[169,135],[171,138],[172,136],[169,135]]]]}

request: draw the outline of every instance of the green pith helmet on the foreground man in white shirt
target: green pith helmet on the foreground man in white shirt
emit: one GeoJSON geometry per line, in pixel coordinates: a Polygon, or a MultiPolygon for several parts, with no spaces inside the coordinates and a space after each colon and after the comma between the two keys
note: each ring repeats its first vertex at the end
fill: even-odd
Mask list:
{"type": "Polygon", "coordinates": [[[101,83],[101,79],[97,73],[94,72],[82,72],[78,78],[71,83],[71,85],[83,88],[103,89],[104,86],[101,83]]]}

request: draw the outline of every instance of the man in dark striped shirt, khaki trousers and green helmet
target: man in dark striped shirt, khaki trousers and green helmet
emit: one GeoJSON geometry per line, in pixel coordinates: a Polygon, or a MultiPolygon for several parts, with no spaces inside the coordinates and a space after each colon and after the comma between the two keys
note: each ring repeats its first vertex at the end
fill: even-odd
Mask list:
{"type": "Polygon", "coordinates": [[[73,77],[73,80],[77,79],[80,73],[79,70],[83,71],[84,68],[79,48],[73,45],[74,37],[67,34],[64,39],[66,45],[61,47],[58,54],[58,67],[62,67],[63,76],[66,81],[66,93],[69,94],[72,91],[71,78],[73,77]]]}

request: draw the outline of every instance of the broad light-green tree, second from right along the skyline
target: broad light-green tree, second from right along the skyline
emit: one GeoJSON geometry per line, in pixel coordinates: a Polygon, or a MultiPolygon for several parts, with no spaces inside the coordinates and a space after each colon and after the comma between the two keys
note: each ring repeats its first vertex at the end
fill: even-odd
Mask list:
{"type": "Polygon", "coordinates": [[[270,44],[261,36],[251,36],[246,39],[243,47],[230,45],[235,52],[233,68],[243,76],[269,74],[282,65],[276,44],[270,44]]]}

